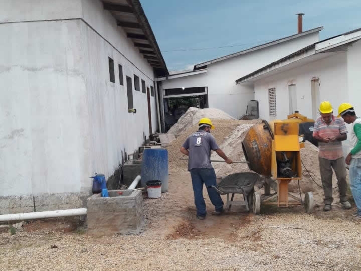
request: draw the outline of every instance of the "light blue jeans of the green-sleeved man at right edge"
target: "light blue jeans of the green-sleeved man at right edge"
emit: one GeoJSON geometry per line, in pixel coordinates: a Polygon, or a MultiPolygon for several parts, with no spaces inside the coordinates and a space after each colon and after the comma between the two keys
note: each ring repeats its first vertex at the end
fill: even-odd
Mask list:
{"type": "Polygon", "coordinates": [[[361,215],[361,158],[351,159],[348,175],[351,193],[357,207],[357,213],[358,215],[361,215]]]}

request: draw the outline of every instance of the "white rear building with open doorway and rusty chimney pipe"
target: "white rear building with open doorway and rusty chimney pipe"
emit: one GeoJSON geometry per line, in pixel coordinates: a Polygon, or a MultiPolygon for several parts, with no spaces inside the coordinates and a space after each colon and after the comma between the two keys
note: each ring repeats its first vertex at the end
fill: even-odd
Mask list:
{"type": "MultiPolygon", "coordinates": [[[[199,107],[215,107],[239,118],[246,112],[247,103],[255,98],[253,88],[235,85],[240,75],[247,75],[277,59],[319,41],[315,28],[262,44],[228,56],[195,65],[193,71],[157,78],[160,91],[162,129],[167,130],[167,116],[172,100],[184,97],[200,98],[199,107]]],[[[174,120],[173,120],[174,122],[174,120]]]]}

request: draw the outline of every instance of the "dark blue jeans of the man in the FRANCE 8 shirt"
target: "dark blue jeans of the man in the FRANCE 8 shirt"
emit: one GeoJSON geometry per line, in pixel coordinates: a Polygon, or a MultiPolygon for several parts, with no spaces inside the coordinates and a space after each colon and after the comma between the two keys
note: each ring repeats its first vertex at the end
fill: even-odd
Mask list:
{"type": "Polygon", "coordinates": [[[206,184],[208,196],[212,204],[216,207],[216,211],[223,210],[223,200],[216,189],[210,187],[217,186],[216,173],[214,169],[191,169],[192,185],[195,195],[195,204],[197,215],[206,216],[206,202],[203,198],[203,184],[206,184]]]}

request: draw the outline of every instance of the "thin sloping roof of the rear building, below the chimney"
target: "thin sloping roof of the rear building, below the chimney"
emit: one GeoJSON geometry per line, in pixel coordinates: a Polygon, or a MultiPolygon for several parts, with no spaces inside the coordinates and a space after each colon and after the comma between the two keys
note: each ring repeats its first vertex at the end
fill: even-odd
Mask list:
{"type": "Polygon", "coordinates": [[[304,31],[304,32],[299,33],[299,34],[291,35],[291,36],[288,36],[288,37],[285,37],[285,38],[282,38],[282,39],[278,39],[278,40],[274,40],[274,41],[271,41],[271,42],[268,42],[268,43],[265,43],[265,44],[257,45],[255,47],[252,47],[252,48],[249,48],[249,49],[237,52],[237,53],[233,53],[233,54],[230,54],[230,55],[227,55],[227,56],[219,57],[219,58],[209,60],[209,61],[206,61],[206,62],[203,62],[203,63],[200,63],[200,64],[196,64],[194,66],[194,70],[197,70],[199,68],[204,68],[205,66],[207,66],[209,64],[212,64],[212,63],[223,61],[223,60],[233,58],[233,57],[236,57],[236,56],[239,56],[239,55],[247,54],[249,52],[260,50],[262,48],[266,48],[266,47],[269,47],[269,46],[272,46],[272,45],[275,45],[275,44],[279,44],[279,43],[286,42],[286,41],[289,41],[289,40],[292,40],[292,39],[296,39],[296,38],[299,38],[299,37],[302,37],[302,36],[305,36],[305,35],[308,35],[308,34],[319,32],[322,29],[323,29],[323,27],[317,27],[317,28],[314,28],[314,29],[310,29],[308,31],[304,31]]]}

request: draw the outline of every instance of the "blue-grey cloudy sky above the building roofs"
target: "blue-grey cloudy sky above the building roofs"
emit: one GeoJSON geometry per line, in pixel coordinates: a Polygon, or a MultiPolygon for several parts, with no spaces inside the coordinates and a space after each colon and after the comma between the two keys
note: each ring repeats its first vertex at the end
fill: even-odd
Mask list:
{"type": "Polygon", "coordinates": [[[361,0],[140,0],[169,71],[323,26],[320,39],[361,28],[361,0]],[[221,47],[221,48],[220,48],[221,47]]]}

